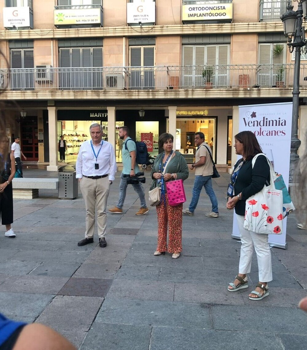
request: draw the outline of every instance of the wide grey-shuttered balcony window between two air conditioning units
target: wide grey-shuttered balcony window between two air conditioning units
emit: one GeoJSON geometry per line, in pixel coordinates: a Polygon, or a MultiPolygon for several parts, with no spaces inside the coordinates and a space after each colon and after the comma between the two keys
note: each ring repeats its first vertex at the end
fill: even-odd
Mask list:
{"type": "Polygon", "coordinates": [[[102,89],[102,47],[61,48],[62,89],[102,89]]]}

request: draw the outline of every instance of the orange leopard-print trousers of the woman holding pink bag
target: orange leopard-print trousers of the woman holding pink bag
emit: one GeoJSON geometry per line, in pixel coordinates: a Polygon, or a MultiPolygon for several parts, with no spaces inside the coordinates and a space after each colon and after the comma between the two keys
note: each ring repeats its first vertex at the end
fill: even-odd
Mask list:
{"type": "Polygon", "coordinates": [[[182,204],[171,207],[166,197],[164,201],[156,206],[158,214],[158,245],[159,252],[181,252],[182,251],[182,204]],[[168,247],[167,247],[167,226],[168,226],[168,247]]]}

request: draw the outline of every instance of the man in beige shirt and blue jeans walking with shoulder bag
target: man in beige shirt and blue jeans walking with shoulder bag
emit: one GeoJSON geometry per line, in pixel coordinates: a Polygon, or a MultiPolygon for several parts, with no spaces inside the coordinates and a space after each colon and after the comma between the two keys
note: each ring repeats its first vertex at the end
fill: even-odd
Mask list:
{"type": "Polygon", "coordinates": [[[195,145],[197,146],[195,154],[195,163],[190,165],[190,169],[195,169],[195,180],[194,186],[192,189],[192,200],[189,205],[189,208],[183,209],[182,213],[186,215],[194,215],[194,210],[197,206],[199,196],[202,188],[205,188],[207,195],[210,198],[212,204],[212,211],[205,214],[208,217],[218,217],[218,207],[217,199],[212,188],[212,174],[213,174],[213,165],[210,158],[210,148],[204,142],[205,136],[202,132],[197,132],[194,135],[195,145]]]}

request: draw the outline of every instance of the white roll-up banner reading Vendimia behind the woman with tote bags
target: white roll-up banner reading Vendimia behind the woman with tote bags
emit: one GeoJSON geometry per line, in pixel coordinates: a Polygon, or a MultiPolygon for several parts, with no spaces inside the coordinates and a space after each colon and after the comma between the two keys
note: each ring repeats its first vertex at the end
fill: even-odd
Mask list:
{"type": "MultiPolygon", "coordinates": [[[[239,106],[239,132],[253,132],[263,153],[272,162],[274,170],[282,174],[289,185],[289,164],[291,146],[292,102],[239,106]]],[[[233,141],[234,144],[234,141],[233,141]]],[[[238,156],[238,159],[241,158],[238,156]]],[[[287,249],[287,218],[283,222],[282,235],[268,235],[273,247],[287,249]]],[[[232,238],[240,238],[237,219],[233,216],[232,238]]]]}

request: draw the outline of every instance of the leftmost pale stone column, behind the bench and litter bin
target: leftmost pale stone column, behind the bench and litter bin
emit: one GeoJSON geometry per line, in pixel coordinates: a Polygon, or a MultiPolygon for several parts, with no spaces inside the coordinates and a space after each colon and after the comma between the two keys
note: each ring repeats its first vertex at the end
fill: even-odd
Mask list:
{"type": "Polygon", "coordinates": [[[58,140],[57,140],[57,108],[48,108],[48,125],[49,125],[49,165],[48,172],[57,172],[58,140]]]}

